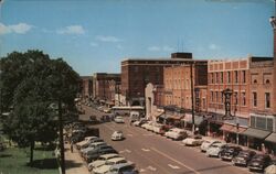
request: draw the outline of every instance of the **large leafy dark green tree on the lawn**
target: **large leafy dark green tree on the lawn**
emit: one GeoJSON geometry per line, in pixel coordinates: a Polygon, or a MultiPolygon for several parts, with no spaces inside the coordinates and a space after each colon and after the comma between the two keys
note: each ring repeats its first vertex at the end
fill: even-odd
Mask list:
{"type": "Polygon", "coordinates": [[[74,108],[79,76],[62,58],[50,59],[40,51],[11,53],[0,62],[1,107],[13,108],[4,131],[19,144],[30,146],[33,162],[34,142],[51,142],[57,137],[56,110],[52,104],[74,108]]]}

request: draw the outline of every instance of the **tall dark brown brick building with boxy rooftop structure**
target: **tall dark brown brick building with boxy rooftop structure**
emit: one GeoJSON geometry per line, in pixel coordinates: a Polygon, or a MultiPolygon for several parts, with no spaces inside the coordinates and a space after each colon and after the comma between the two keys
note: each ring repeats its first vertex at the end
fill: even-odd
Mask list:
{"type": "Polygon", "coordinates": [[[192,61],[191,53],[173,53],[171,58],[131,58],[121,62],[123,105],[145,106],[145,88],[148,83],[163,84],[163,67],[192,61]]]}

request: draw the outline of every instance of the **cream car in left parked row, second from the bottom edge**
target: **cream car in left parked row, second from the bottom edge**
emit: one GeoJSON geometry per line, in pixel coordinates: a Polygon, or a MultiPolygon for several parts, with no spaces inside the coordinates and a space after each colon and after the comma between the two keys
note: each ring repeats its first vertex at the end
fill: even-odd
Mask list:
{"type": "Polygon", "coordinates": [[[100,165],[99,167],[93,168],[94,174],[105,174],[109,171],[109,168],[115,165],[115,164],[121,164],[121,163],[127,163],[127,160],[125,157],[115,157],[115,159],[109,159],[105,162],[104,165],[100,165]]]}

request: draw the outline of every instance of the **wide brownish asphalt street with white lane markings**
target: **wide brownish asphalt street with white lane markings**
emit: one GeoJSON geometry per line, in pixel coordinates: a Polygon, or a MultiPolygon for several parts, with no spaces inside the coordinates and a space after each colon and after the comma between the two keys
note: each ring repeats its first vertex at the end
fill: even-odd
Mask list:
{"type": "MultiPolygon", "coordinates": [[[[81,119],[88,119],[89,115],[105,113],[85,107],[86,115],[81,119]]],[[[126,123],[106,122],[93,127],[99,128],[100,137],[113,145],[123,156],[134,162],[140,173],[150,174],[248,174],[248,168],[233,166],[231,162],[206,157],[199,148],[184,146],[181,141],[172,141],[139,127],[126,123]],[[112,141],[115,130],[121,130],[126,137],[124,141],[112,141]]]]}

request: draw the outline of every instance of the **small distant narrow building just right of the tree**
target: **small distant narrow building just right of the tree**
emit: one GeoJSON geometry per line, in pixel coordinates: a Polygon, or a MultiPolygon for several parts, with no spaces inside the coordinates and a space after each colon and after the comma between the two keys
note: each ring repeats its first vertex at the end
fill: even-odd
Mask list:
{"type": "Polygon", "coordinates": [[[89,99],[93,96],[93,79],[92,76],[81,76],[81,91],[83,99],[89,99]]]}

